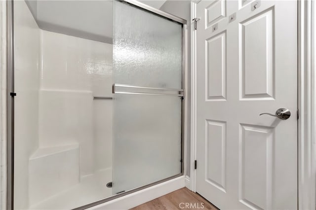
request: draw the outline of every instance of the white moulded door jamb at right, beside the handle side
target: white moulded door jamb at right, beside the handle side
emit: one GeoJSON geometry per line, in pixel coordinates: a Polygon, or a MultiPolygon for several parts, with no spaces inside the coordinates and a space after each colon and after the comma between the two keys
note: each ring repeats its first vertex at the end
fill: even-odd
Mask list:
{"type": "Polygon", "coordinates": [[[298,1],[298,209],[316,209],[315,12],[314,0],[298,1]]]}

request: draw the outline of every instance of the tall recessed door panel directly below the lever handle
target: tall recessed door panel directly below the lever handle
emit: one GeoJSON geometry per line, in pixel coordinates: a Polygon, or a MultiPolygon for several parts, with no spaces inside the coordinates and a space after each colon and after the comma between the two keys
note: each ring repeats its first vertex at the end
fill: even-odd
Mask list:
{"type": "Polygon", "coordinates": [[[240,202],[251,209],[271,209],[274,128],[246,124],[239,128],[240,202]]]}

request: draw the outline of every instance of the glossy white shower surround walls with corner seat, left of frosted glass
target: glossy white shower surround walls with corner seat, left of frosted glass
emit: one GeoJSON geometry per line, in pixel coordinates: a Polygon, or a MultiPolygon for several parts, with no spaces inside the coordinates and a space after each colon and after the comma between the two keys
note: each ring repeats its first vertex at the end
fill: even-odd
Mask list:
{"type": "Polygon", "coordinates": [[[14,9],[15,209],[36,209],[111,176],[112,101],[93,96],[112,96],[112,44],[40,30],[25,1],[14,9]]]}

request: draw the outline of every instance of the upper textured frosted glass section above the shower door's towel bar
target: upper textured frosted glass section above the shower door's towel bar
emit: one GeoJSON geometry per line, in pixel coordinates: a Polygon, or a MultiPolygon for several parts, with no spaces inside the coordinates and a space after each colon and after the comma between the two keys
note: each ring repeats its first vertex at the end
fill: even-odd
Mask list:
{"type": "Polygon", "coordinates": [[[114,1],[114,81],[182,88],[182,25],[114,1]]]}

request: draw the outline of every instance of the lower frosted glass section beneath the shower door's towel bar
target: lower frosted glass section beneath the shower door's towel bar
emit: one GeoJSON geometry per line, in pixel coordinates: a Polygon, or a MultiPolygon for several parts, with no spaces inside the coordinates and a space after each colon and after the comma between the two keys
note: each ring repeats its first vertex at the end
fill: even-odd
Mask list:
{"type": "Polygon", "coordinates": [[[113,193],[181,173],[181,99],[116,95],[113,193]]]}

